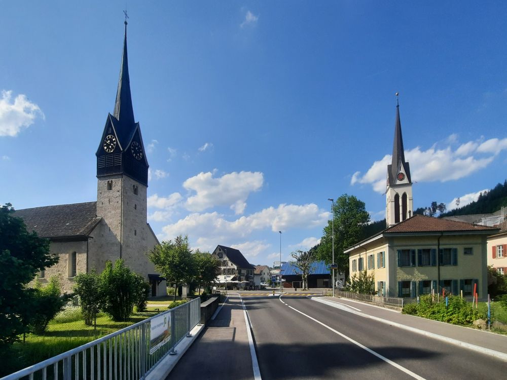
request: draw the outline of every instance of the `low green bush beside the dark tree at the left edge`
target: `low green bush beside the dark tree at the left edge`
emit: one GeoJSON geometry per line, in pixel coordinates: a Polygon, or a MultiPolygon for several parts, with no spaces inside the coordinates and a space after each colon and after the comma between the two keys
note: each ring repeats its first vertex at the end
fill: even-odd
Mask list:
{"type": "Polygon", "coordinates": [[[42,334],[49,321],[64,308],[71,295],[60,295],[60,281],[53,276],[44,287],[38,281],[35,282],[32,297],[33,314],[29,317],[29,325],[35,333],[42,334]]]}

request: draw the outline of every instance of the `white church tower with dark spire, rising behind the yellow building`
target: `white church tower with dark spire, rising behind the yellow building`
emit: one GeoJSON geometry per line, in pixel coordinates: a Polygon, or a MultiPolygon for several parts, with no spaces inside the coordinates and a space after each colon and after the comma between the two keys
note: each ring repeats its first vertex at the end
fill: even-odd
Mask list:
{"type": "MultiPolygon", "coordinates": [[[[397,97],[396,93],[396,97],[397,97]]],[[[400,104],[396,98],[396,122],[394,125],[394,143],[392,161],[387,165],[387,190],[385,219],[387,227],[410,218],[414,213],[412,202],[412,180],[410,165],[405,161],[403,150],[402,125],[400,122],[400,104]]]]}

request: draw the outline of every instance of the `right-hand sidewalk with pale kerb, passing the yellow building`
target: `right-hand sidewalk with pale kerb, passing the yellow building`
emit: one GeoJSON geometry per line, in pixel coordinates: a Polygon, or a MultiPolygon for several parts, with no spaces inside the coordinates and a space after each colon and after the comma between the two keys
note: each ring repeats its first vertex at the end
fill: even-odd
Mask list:
{"type": "Polygon", "coordinates": [[[345,308],[347,311],[350,311],[356,315],[367,318],[380,318],[384,321],[400,324],[402,326],[399,327],[412,329],[414,332],[423,333],[424,335],[439,335],[438,338],[440,340],[446,340],[452,344],[458,344],[460,346],[468,348],[472,348],[469,347],[469,345],[479,346],[481,348],[484,348],[482,352],[503,358],[503,360],[507,360],[507,335],[500,335],[488,331],[456,326],[449,323],[433,321],[431,319],[401,314],[396,311],[371,306],[367,303],[350,300],[348,298],[319,298],[328,302],[338,303],[336,306],[341,306],[341,308],[345,308]],[[359,310],[350,309],[347,306],[359,310]],[[487,352],[488,350],[492,350],[493,352],[487,352]],[[494,352],[498,352],[500,354],[496,355],[494,352]]]}

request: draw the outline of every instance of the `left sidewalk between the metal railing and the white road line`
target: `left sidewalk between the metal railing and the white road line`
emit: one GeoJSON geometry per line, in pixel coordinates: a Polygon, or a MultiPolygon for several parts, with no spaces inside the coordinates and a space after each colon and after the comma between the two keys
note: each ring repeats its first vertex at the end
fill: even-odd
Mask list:
{"type": "Polygon", "coordinates": [[[229,295],[166,380],[253,379],[246,328],[239,295],[229,295]]]}

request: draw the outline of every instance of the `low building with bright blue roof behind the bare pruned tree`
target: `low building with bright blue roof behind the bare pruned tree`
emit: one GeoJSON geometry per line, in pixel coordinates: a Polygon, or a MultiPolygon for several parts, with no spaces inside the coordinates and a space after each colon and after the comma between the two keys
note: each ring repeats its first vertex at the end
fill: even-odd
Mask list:
{"type": "MultiPolygon", "coordinates": [[[[282,264],[281,275],[284,287],[301,288],[303,272],[290,262],[282,264]]],[[[324,261],[315,261],[311,265],[308,275],[309,288],[331,288],[331,270],[324,261]]]]}

